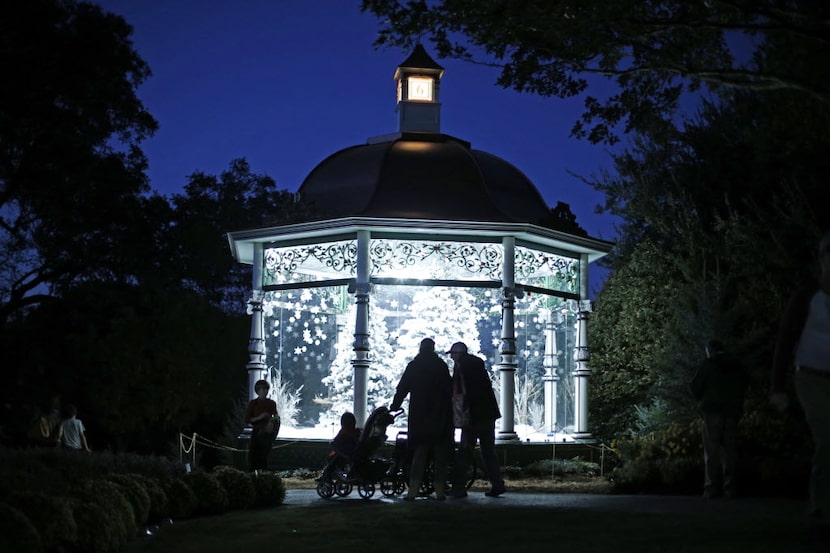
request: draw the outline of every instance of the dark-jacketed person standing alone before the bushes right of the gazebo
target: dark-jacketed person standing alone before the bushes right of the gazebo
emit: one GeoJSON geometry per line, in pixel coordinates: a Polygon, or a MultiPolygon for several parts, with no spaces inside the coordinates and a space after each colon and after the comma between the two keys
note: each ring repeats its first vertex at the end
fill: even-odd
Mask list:
{"type": "Polygon", "coordinates": [[[703,496],[733,497],[738,421],[749,379],[740,361],[728,355],[720,341],[709,341],[706,357],[689,384],[703,416],[703,496]]]}

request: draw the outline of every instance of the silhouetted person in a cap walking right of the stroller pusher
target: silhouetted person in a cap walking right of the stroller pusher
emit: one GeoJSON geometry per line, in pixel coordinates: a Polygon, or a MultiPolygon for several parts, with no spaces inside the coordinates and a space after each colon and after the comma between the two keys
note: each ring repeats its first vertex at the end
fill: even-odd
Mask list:
{"type": "Polygon", "coordinates": [[[484,469],[490,480],[487,497],[498,497],[505,492],[499,461],[496,457],[496,419],[501,418],[496,394],[484,360],[467,352],[464,342],[456,342],[447,352],[452,358],[453,390],[463,390],[469,409],[469,422],[461,427],[461,445],[455,456],[455,474],[451,497],[467,497],[466,476],[472,463],[476,441],[481,447],[484,469]]]}

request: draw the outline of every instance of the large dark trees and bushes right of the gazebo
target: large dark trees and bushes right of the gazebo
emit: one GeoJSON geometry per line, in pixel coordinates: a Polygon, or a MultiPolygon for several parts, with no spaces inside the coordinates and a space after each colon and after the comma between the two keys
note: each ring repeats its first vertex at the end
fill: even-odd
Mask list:
{"type": "MultiPolygon", "coordinates": [[[[779,314],[815,274],[815,241],[830,228],[828,123],[821,104],[736,94],[706,103],[674,141],[617,156],[617,177],[593,181],[624,221],[590,329],[601,436],[632,431],[635,406],[655,400],[666,420],[693,416],[686,384],[713,337],[749,369],[750,393],[766,395],[779,314]]],[[[761,405],[748,414],[774,417],[761,405]]]]}

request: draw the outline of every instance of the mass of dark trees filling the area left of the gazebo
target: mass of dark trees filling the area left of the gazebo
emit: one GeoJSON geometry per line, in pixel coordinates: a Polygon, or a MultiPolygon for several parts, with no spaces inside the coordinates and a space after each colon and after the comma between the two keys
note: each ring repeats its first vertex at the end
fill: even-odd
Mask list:
{"type": "Polygon", "coordinates": [[[0,439],[22,445],[53,397],[78,406],[97,450],[217,438],[250,329],[250,267],[226,233],[311,210],[244,159],[171,198],[150,190],[150,68],[122,17],[34,0],[0,26],[15,83],[0,92],[0,439]]]}

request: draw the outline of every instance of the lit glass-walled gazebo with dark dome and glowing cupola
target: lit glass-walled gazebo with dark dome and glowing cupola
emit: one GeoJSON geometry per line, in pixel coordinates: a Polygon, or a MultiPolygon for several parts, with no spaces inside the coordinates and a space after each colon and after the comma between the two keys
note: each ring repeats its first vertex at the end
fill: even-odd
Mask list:
{"type": "Polygon", "coordinates": [[[498,440],[518,439],[517,406],[589,438],[588,264],[611,243],[541,226],[550,208],[520,170],[441,133],[443,73],[420,45],[396,69],[398,131],[311,171],[314,220],[228,234],[253,265],[251,392],[290,366],[310,418],[347,398],[363,421],[421,338],[462,340],[494,371],[498,440]]]}

